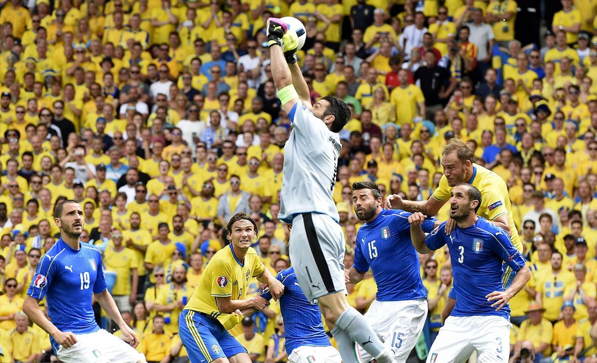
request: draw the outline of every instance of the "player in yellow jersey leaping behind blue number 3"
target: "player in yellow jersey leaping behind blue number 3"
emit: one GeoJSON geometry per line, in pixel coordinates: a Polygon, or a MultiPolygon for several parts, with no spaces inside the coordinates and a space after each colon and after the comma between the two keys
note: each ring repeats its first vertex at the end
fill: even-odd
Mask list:
{"type": "MultiPolygon", "coordinates": [[[[512,203],[504,179],[491,170],[472,162],[473,151],[464,142],[453,138],[442,151],[442,167],[444,175],[439,180],[439,186],[426,201],[408,201],[396,194],[386,198],[386,206],[402,209],[408,212],[421,212],[427,216],[435,216],[439,209],[450,199],[450,192],[454,185],[466,182],[481,191],[482,203],[478,215],[491,223],[503,228],[510,234],[512,244],[522,252],[522,242],[512,216],[512,203]]],[[[456,221],[448,219],[446,233],[450,234],[456,221]]],[[[509,286],[515,273],[504,264],[502,283],[504,288],[509,286]]],[[[456,300],[446,302],[446,308],[451,311],[456,300]]]]}

